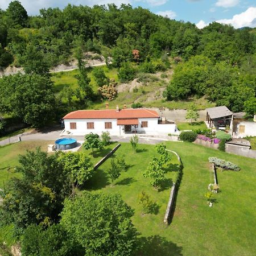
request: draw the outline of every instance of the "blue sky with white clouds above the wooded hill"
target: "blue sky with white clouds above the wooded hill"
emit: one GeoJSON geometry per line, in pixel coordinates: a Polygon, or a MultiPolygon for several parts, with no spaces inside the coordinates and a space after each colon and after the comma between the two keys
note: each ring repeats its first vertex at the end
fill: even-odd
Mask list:
{"type": "MultiPolygon", "coordinates": [[[[5,10],[11,0],[0,0],[0,8],[5,10]]],[[[39,14],[48,7],[63,9],[72,5],[104,5],[130,3],[133,7],[142,6],[152,13],[168,16],[170,19],[195,23],[203,28],[216,21],[232,24],[235,28],[256,27],[256,0],[20,0],[29,15],[39,14]]]]}

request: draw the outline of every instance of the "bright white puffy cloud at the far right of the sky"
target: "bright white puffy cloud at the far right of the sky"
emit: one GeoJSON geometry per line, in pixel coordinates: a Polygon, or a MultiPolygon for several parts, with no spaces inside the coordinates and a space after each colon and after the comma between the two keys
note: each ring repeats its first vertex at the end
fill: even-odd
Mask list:
{"type": "Polygon", "coordinates": [[[220,19],[216,22],[232,24],[234,28],[256,27],[256,7],[249,7],[243,13],[234,15],[232,19],[220,19]]]}

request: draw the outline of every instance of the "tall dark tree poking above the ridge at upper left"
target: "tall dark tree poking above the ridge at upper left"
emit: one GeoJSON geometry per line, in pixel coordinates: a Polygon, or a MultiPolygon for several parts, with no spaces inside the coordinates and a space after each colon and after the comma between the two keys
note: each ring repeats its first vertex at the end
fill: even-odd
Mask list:
{"type": "Polygon", "coordinates": [[[10,2],[6,9],[6,14],[9,16],[15,24],[25,27],[27,24],[27,11],[24,9],[19,1],[10,2]]]}

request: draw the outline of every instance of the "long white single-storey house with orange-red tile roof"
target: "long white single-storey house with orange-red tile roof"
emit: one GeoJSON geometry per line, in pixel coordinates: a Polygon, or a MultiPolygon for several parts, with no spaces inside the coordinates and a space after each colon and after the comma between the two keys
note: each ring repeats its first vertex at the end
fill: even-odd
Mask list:
{"type": "Polygon", "coordinates": [[[175,123],[161,122],[158,113],[148,109],[77,110],[63,119],[65,131],[71,135],[101,134],[103,131],[109,131],[110,135],[168,135],[177,131],[175,123]]]}

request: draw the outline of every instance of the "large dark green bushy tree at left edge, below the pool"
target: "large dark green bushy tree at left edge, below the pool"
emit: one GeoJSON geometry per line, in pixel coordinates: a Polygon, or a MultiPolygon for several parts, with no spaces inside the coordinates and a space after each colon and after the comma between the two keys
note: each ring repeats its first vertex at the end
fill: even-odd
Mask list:
{"type": "Polygon", "coordinates": [[[59,220],[63,201],[71,194],[69,176],[63,172],[58,155],[47,155],[40,148],[19,156],[16,171],[0,206],[0,222],[13,223],[17,234],[31,224],[49,225],[59,220]]]}

